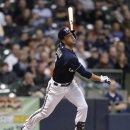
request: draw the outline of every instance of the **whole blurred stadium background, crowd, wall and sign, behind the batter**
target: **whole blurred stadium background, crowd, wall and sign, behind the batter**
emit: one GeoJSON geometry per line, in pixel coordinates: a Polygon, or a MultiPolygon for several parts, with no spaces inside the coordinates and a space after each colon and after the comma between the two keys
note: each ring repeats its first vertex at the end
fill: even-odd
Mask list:
{"type": "MultiPolygon", "coordinates": [[[[57,33],[64,26],[69,27],[69,6],[74,9],[74,29],[77,35],[74,51],[79,61],[95,74],[107,75],[112,79],[112,85],[108,86],[76,74],[75,80],[91,109],[86,126],[89,130],[130,130],[130,1],[0,0],[2,130],[19,130],[20,123],[29,116],[26,107],[35,105],[35,102],[26,104],[26,100],[30,99],[31,103],[31,99],[37,99],[37,107],[43,103],[47,82],[53,74],[59,43],[57,33]],[[113,89],[114,93],[118,93],[118,98],[111,102],[106,93],[111,93],[113,89]],[[13,125],[19,123],[17,128],[9,128],[9,124],[4,126],[4,119],[7,123],[14,113],[24,115],[22,110],[26,111],[26,116],[15,115],[14,118],[13,125]]],[[[74,122],[71,126],[71,120],[74,113],[71,115],[69,110],[76,112],[63,99],[54,114],[40,124],[41,128],[73,129],[74,122]],[[68,108],[66,112],[62,110],[65,106],[68,108]],[[59,119],[62,127],[55,125],[59,119]],[[53,122],[52,128],[45,128],[50,122],[53,122]]]]}

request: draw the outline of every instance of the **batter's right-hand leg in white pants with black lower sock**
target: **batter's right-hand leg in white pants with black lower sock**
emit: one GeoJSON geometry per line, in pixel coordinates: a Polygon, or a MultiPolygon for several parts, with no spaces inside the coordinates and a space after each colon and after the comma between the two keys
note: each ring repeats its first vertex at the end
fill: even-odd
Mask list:
{"type": "Polygon", "coordinates": [[[75,130],[84,130],[88,105],[81,90],[74,80],[70,84],[68,93],[65,95],[65,97],[77,107],[77,115],[75,118],[75,124],[77,127],[75,130]]]}

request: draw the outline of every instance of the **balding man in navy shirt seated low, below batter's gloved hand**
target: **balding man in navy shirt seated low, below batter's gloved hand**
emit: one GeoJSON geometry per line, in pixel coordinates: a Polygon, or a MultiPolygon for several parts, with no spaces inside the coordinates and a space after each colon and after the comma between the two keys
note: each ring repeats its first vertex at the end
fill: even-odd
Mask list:
{"type": "Polygon", "coordinates": [[[105,95],[106,98],[109,100],[108,110],[110,112],[121,112],[126,108],[126,105],[123,102],[123,97],[117,93],[116,90],[116,81],[111,80],[111,84],[109,86],[109,91],[105,95]]]}

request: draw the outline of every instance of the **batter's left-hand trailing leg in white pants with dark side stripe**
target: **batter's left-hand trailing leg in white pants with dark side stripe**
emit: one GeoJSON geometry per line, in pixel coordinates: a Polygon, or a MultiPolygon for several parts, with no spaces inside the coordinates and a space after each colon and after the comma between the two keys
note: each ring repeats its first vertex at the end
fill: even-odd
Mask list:
{"type": "Polygon", "coordinates": [[[22,130],[32,130],[37,122],[48,117],[52,113],[56,105],[64,97],[63,88],[54,86],[51,82],[48,84],[43,106],[28,118],[22,130]]]}

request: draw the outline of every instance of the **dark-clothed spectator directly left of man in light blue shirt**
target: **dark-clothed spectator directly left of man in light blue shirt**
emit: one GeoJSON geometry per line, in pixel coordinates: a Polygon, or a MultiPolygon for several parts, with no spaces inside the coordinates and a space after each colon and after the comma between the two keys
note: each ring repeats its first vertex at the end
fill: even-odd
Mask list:
{"type": "Polygon", "coordinates": [[[23,10],[22,14],[15,19],[15,23],[19,26],[28,26],[31,17],[29,9],[23,10]]]}

